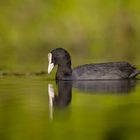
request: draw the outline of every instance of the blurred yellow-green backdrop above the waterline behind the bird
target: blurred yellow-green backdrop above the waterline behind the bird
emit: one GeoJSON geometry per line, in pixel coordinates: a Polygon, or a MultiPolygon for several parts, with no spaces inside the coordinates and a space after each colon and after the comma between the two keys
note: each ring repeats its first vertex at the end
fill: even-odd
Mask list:
{"type": "Polygon", "coordinates": [[[63,47],[73,66],[140,62],[138,0],[0,1],[0,70],[47,70],[47,53],[63,47]]]}

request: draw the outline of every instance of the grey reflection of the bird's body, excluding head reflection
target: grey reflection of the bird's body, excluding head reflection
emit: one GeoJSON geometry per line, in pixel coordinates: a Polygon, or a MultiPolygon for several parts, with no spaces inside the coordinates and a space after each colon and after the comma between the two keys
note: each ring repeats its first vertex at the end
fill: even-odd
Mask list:
{"type": "Polygon", "coordinates": [[[73,87],[90,93],[129,93],[136,86],[136,80],[73,81],[73,87]]]}

